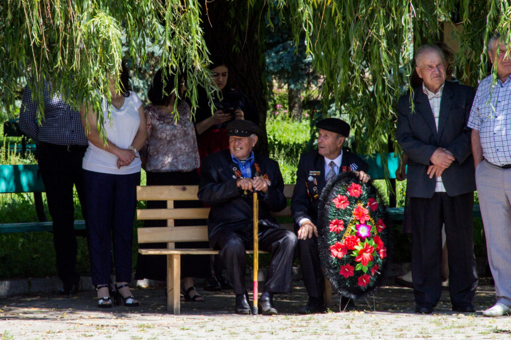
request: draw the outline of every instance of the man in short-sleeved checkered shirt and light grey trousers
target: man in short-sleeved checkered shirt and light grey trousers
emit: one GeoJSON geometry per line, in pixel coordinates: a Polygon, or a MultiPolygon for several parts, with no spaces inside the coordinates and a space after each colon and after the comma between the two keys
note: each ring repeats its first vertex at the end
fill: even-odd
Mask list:
{"type": "Polygon", "coordinates": [[[484,222],[486,248],[495,280],[496,304],[483,311],[487,317],[511,312],[511,58],[508,45],[493,36],[488,54],[494,72],[477,88],[468,127],[472,128],[472,152],[476,184],[484,222]]]}

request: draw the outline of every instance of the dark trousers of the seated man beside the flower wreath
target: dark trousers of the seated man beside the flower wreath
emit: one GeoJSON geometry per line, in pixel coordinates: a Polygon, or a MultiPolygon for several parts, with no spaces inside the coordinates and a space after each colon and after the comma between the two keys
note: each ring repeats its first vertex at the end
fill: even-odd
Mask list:
{"type": "Polygon", "coordinates": [[[301,277],[304,281],[307,294],[312,298],[323,299],[324,276],[319,260],[317,237],[298,240],[298,255],[300,257],[301,277]]]}

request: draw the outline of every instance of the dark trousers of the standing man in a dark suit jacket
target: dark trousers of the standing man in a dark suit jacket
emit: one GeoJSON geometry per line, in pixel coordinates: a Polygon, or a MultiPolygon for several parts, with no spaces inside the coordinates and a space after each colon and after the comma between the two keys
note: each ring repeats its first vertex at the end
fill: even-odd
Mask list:
{"type": "Polygon", "coordinates": [[[415,302],[434,307],[442,295],[442,225],[449,259],[449,294],[453,306],[473,306],[477,272],[473,245],[474,193],[410,198],[412,278],[415,302]]]}

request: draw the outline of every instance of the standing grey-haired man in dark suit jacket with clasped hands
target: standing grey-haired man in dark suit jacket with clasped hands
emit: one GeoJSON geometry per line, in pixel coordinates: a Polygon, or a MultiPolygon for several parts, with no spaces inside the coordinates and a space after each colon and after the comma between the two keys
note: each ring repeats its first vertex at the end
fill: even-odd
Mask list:
{"type": "Polygon", "coordinates": [[[445,81],[444,56],[437,46],[419,47],[415,64],[424,83],[411,98],[408,92],[399,99],[396,135],[409,156],[415,311],[431,313],[442,294],[444,224],[452,309],[472,312],[477,286],[472,241],[476,187],[467,120],[475,91],[445,81]]]}

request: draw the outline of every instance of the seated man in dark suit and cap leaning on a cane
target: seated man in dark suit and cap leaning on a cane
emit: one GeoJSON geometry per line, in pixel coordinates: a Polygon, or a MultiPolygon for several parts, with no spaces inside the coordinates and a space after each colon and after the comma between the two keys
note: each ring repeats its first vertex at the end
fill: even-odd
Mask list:
{"type": "Polygon", "coordinates": [[[259,195],[259,249],[271,253],[261,295],[263,315],[275,315],[273,293],[289,293],[296,236],[281,228],[270,212],[286,205],[284,180],[278,163],[254,153],[259,127],[248,120],[227,124],[229,150],[208,155],[202,161],[198,197],[211,205],[207,222],[213,248],[227,268],[234,285],[236,313],[250,313],[245,289],[245,249],[253,248],[252,192],[259,195]]]}

